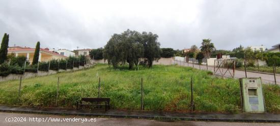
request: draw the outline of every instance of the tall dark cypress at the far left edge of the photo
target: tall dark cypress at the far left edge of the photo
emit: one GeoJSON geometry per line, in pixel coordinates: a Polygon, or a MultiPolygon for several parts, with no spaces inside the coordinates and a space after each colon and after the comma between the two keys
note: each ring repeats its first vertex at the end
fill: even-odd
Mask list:
{"type": "Polygon", "coordinates": [[[7,59],[8,47],[9,47],[8,45],[9,45],[9,35],[5,33],[0,48],[0,64],[3,64],[3,62],[5,62],[5,60],[7,59]]]}

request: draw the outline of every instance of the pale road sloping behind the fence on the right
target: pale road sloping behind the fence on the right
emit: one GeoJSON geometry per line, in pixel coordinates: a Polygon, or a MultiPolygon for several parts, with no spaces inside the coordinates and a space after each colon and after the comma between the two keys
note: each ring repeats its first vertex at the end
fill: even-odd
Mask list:
{"type": "MultiPolygon", "coordinates": [[[[174,61],[175,64],[178,64],[180,66],[185,66],[185,67],[191,67],[192,68],[192,64],[188,64],[187,62],[183,62],[183,61],[174,61]]],[[[196,69],[201,69],[201,70],[207,70],[206,65],[193,65],[193,68],[196,69]]],[[[208,71],[212,71],[213,73],[215,73],[215,75],[218,76],[223,76],[224,77],[232,77],[233,76],[233,70],[227,70],[227,69],[217,69],[215,68],[214,72],[214,67],[208,66],[208,71]]],[[[239,71],[239,70],[235,70],[235,78],[245,78],[245,71],[239,71]]],[[[274,75],[271,74],[262,74],[262,73],[254,73],[254,72],[247,72],[247,77],[261,77],[262,78],[262,82],[263,83],[269,83],[269,84],[274,84],[274,75]]],[[[280,85],[280,76],[276,75],[276,83],[278,85],[280,85]]]]}

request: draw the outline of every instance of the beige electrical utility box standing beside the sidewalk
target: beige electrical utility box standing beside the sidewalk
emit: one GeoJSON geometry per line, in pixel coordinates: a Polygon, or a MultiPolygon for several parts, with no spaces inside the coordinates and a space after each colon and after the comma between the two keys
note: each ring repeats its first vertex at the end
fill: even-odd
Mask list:
{"type": "Polygon", "coordinates": [[[244,112],[265,112],[261,78],[240,78],[240,89],[244,112]]]}

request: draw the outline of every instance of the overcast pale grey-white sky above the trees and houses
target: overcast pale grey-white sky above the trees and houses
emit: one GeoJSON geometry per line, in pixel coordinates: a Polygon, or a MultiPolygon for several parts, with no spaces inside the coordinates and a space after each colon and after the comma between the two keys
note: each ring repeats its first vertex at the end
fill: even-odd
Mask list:
{"type": "Polygon", "coordinates": [[[280,1],[39,1],[0,0],[0,37],[9,46],[99,48],[126,29],[151,31],[161,48],[217,49],[280,43],[280,1]]]}

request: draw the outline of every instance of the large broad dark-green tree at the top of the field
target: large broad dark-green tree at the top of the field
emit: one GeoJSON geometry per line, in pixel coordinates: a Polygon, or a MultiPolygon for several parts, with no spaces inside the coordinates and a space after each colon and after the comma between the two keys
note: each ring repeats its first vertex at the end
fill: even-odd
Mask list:
{"type": "Polygon", "coordinates": [[[138,64],[139,58],[146,58],[149,67],[152,67],[153,60],[160,58],[160,44],[158,36],[152,33],[127,29],[124,33],[114,34],[105,45],[103,56],[108,60],[109,65],[116,69],[118,65],[129,64],[129,69],[138,64]]]}

